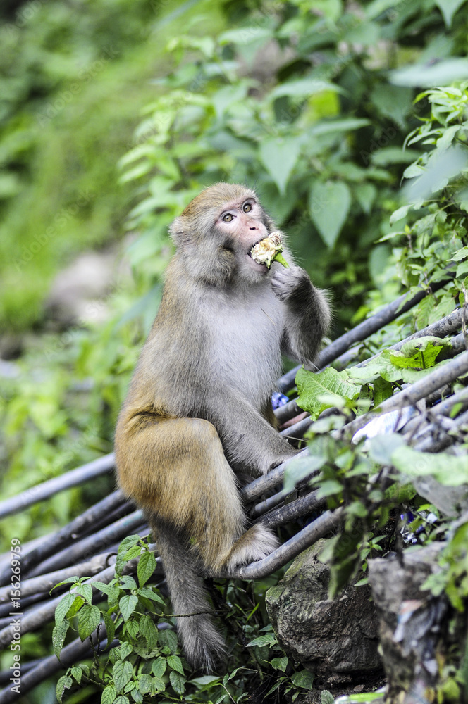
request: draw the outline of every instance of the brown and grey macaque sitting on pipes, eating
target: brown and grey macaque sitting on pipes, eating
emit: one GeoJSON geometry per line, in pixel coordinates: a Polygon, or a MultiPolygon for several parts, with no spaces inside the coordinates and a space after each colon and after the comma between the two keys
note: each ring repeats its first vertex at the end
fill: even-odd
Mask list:
{"type": "MultiPolygon", "coordinates": [[[[118,419],[119,482],[149,519],[177,614],[211,609],[200,575],[278,545],[261,523],[247,529],[236,472],[259,476],[295,454],[271,392],[281,353],[312,366],[330,313],[303,269],[252,260],[273,230],[236,184],[214,184],[176,218],[161,307],[118,419]]],[[[187,660],[213,670],[225,646],[211,616],[180,617],[178,632],[187,660]]]]}

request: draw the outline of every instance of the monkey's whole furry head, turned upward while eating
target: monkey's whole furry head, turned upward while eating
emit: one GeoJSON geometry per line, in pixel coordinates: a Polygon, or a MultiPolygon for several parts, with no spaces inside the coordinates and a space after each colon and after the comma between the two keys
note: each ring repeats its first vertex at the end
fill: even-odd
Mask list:
{"type": "Polygon", "coordinates": [[[273,230],[255,191],[216,183],[187,205],[170,232],[190,275],[223,286],[254,284],[269,274],[250,250],[273,230]]]}

